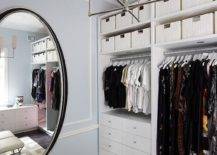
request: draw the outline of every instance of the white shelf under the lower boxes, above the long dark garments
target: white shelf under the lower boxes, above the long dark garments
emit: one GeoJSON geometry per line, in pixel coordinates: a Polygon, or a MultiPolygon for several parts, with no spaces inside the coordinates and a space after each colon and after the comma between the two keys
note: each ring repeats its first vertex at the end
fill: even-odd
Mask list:
{"type": "Polygon", "coordinates": [[[173,49],[183,49],[183,48],[190,48],[190,47],[192,48],[203,47],[203,46],[213,45],[216,43],[217,43],[217,34],[212,34],[203,37],[195,37],[195,38],[183,39],[179,41],[159,43],[159,44],[155,44],[155,46],[173,50],[173,49]]]}

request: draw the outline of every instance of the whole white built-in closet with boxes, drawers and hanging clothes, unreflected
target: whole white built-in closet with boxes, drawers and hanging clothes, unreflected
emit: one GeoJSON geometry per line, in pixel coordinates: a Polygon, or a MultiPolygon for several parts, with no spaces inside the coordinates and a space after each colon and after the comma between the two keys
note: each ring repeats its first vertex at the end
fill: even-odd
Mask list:
{"type": "MultiPolygon", "coordinates": [[[[145,1],[138,3],[142,2],[145,1]]],[[[213,124],[215,111],[209,113],[207,109],[213,96],[203,100],[201,94],[205,90],[213,93],[211,90],[214,88],[207,86],[201,88],[201,92],[194,91],[197,86],[195,81],[190,82],[188,89],[177,88],[177,79],[174,80],[171,73],[174,66],[182,72],[183,67],[190,65],[191,68],[198,63],[199,67],[196,69],[201,72],[195,75],[196,71],[191,69],[194,72],[189,73],[194,77],[192,79],[206,81],[202,77],[215,75],[216,8],[217,2],[212,0],[168,0],[130,8],[139,22],[129,12],[124,11],[99,17],[100,155],[215,154],[213,133],[211,140],[210,137],[207,139],[208,142],[198,138],[203,137],[203,129],[206,129],[207,133],[214,130],[208,124],[213,124]],[[163,82],[167,80],[167,84],[162,84],[162,77],[163,82]],[[187,100],[188,94],[182,96],[185,91],[192,93],[195,100],[187,100]],[[178,97],[173,100],[176,93],[178,97]],[[197,95],[201,100],[197,100],[197,95]],[[195,114],[195,117],[191,118],[186,115],[184,117],[182,111],[186,108],[185,102],[189,101],[199,104],[199,107],[191,109],[193,112],[185,111],[186,115],[195,114]],[[167,102],[169,103],[166,104],[167,102]],[[177,107],[173,107],[174,104],[177,107]],[[150,110],[147,110],[147,107],[150,107],[150,110]],[[196,111],[199,112],[198,115],[196,111]],[[177,120],[171,119],[174,113],[178,115],[175,117],[177,120]],[[173,121],[177,121],[179,126],[173,128],[173,121]],[[190,126],[194,127],[183,127],[183,123],[189,125],[186,122],[191,122],[190,126]],[[198,126],[195,125],[197,122],[200,122],[198,126]],[[167,129],[171,129],[174,135],[168,133],[167,129]],[[181,133],[189,132],[194,133],[197,139],[191,136],[186,139],[186,134],[183,138],[181,133]],[[167,141],[171,138],[173,141],[167,141]],[[204,146],[204,143],[209,145],[204,146]],[[176,146],[171,150],[171,145],[176,146]]],[[[189,82],[186,82],[188,77],[181,77],[178,82],[185,80],[182,85],[184,87],[189,82]]]]}

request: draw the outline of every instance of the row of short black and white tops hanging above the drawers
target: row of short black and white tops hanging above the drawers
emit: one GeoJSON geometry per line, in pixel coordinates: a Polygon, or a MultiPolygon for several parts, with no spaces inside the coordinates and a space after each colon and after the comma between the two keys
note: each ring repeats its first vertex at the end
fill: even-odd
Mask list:
{"type": "Polygon", "coordinates": [[[109,66],[103,75],[105,101],[111,108],[151,113],[150,61],[109,66]]]}

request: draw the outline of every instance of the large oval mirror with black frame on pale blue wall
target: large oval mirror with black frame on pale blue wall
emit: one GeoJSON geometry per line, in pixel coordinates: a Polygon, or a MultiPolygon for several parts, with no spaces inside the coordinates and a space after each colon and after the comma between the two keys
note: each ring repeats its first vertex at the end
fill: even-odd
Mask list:
{"type": "Polygon", "coordinates": [[[64,57],[38,14],[0,15],[0,154],[48,154],[60,133],[67,99],[64,57]]]}

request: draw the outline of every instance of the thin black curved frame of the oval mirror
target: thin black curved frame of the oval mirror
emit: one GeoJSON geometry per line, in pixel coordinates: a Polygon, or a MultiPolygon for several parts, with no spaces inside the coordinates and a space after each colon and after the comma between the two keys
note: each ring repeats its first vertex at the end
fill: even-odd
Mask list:
{"type": "Polygon", "coordinates": [[[5,17],[7,17],[8,15],[12,14],[12,13],[16,13],[16,12],[26,12],[26,13],[30,13],[33,16],[36,16],[49,30],[50,34],[52,35],[55,43],[56,43],[56,48],[59,54],[59,58],[60,58],[60,64],[61,64],[61,69],[62,69],[62,85],[63,85],[63,90],[62,90],[62,104],[61,104],[61,111],[60,111],[60,116],[59,116],[59,120],[57,123],[57,128],[55,129],[54,135],[52,137],[52,141],[49,145],[49,147],[46,149],[45,153],[46,155],[49,154],[49,152],[52,150],[54,144],[56,143],[60,131],[62,129],[63,123],[64,123],[64,119],[65,119],[65,113],[66,113],[66,107],[67,107],[67,97],[68,97],[68,81],[67,81],[67,71],[66,71],[66,65],[65,65],[65,59],[64,59],[64,55],[63,55],[63,51],[62,48],[59,44],[59,41],[57,39],[56,34],[54,33],[54,31],[52,30],[51,26],[47,23],[47,21],[42,18],[38,13],[26,9],[26,8],[12,8],[9,10],[6,10],[2,13],[0,13],[0,22],[2,21],[2,19],[4,19],[5,17]]]}

